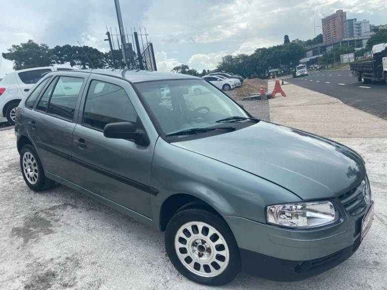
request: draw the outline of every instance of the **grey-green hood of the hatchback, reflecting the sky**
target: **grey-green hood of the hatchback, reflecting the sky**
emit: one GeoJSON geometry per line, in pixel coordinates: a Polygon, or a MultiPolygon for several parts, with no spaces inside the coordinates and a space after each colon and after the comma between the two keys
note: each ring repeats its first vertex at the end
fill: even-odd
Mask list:
{"type": "Polygon", "coordinates": [[[362,158],[342,144],[264,121],[172,144],[267,179],[302,199],[341,195],[365,175],[362,158]]]}

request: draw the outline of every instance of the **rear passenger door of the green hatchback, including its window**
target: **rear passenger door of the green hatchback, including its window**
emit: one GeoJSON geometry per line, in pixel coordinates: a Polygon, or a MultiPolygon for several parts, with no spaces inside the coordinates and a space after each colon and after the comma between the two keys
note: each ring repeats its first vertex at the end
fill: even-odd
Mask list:
{"type": "Polygon", "coordinates": [[[72,170],[74,119],[88,77],[86,73],[55,75],[29,114],[28,131],[44,169],[63,179],[69,179],[72,170]]]}

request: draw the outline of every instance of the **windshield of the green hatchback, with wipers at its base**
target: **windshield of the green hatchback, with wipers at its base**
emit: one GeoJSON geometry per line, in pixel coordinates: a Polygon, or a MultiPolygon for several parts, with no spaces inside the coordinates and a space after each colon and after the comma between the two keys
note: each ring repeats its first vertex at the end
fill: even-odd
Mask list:
{"type": "MultiPolygon", "coordinates": [[[[200,128],[224,126],[223,122],[217,121],[225,118],[249,117],[230,98],[203,80],[146,82],[136,84],[136,87],[164,136],[185,130],[184,135],[190,129],[195,130],[188,132],[197,134],[205,131],[198,130],[200,128]]],[[[236,126],[235,123],[232,125],[236,126]]]]}

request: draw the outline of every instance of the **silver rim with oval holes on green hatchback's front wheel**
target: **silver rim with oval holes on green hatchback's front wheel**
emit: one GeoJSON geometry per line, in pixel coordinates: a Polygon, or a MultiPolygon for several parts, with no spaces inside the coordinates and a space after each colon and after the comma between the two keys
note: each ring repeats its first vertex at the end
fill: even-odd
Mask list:
{"type": "Polygon", "coordinates": [[[182,225],[175,235],[175,250],[180,262],[202,277],[218,276],[227,268],[230,259],[222,234],[203,222],[182,225]]]}

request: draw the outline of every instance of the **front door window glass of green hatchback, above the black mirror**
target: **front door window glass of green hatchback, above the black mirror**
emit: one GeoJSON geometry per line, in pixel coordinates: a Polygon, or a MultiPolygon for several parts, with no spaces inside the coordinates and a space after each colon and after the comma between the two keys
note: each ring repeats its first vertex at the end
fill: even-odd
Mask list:
{"type": "Polygon", "coordinates": [[[125,121],[137,121],[137,113],[125,91],[113,84],[92,81],[86,97],[83,124],[103,130],[106,124],[125,121]]]}

